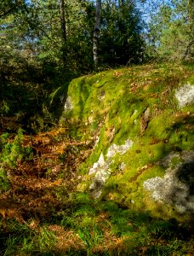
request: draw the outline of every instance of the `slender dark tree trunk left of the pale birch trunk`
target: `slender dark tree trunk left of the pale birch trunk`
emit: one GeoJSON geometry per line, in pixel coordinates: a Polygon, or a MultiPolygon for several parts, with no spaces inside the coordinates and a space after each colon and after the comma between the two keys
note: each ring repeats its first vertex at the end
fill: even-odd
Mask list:
{"type": "Polygon", "coordinates": [[[65,15],[65,1],[60,0],[60,29],[62,39],[62,57],[63,65],[66,67],[66,15],[65,15]]]}

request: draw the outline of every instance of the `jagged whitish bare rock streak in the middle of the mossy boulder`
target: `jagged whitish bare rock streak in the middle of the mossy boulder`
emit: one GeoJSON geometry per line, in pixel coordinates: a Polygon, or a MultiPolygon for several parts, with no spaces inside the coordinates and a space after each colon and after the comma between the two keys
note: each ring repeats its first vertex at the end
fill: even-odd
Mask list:
{"type": "MultiPolygon", "coordinates": [[[[100,158],[94,165],[89,169],[88,174],[94,174],[93,183],[90,185],[89,189],[91,191],[91,195],[94,198],[99,198],[102,192],[102,188],[106,183],[106,180],[111,175],[110,165],[112,163],[112,158],[115,154],[124,154],[128,151],[128,149],[133,145],[131,140],[126,140],[124,145],[118,146],[116,144],[112,144],[111,147],[108,149],[106,154],[107,160],[105,160],[104,155],[101,153],[100,158]]],[[[124,164],[122,163],[121,166],[124,168],[124,164]]]]}

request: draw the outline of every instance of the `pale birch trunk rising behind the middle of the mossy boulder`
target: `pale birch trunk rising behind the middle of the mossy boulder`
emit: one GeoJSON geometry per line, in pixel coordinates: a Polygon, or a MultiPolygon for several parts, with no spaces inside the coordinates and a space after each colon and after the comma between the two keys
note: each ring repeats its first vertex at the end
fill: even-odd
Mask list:
{"type": "Polygon", "coordinates": [[[99,64],[98,44],[99,44],[99,36],[100,36],[100,14],[101,14],[101,0],[96,0],[94,36],[93,36],[94,68],[97,68],[99,64]]]}

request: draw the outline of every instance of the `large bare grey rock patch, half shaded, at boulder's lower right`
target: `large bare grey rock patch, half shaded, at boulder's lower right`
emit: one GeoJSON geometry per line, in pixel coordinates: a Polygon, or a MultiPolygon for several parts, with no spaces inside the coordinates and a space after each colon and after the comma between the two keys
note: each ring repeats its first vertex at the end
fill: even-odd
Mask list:
{"type": "Polygon", "coordinates": [[[170,153],[159,163],[167,167],[164,177],[151,177],[144,189],[152,192],[155,201],[174,205],[180,213],[194,211],[194,151],[170,153]]]}

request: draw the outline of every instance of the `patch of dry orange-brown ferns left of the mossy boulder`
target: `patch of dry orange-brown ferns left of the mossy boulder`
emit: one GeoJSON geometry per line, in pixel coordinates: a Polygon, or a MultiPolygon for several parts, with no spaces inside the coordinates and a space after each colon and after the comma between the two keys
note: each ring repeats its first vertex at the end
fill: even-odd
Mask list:
{"type": "Polygon", "coordinates": [[[28,218],[47,217],[54,207],[61,207],[56,189],[63,187],[71,192],[76,188],[77,166],[91,153],[91,147],[68,140],[64,132],[64,128],[59,128],[24,137],[23,146],[32,149],[33,158],[18,161],[17,168],[10,170],[11,189],[0,195],[3,218],[15,218],[23,223],[28,218]],[[67,146],[84,145],[82,150],[66,153],[67,146]],[[62,154],[67,154],[66,160],[59,160],[62,154]],[[60,173],[63,178],[59,177],[60,173]]]}

